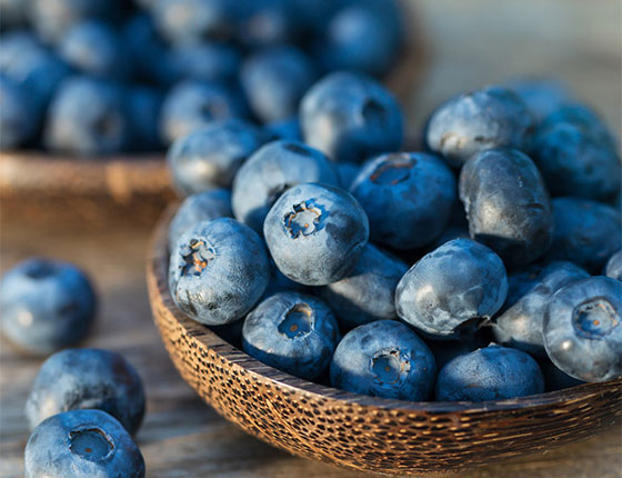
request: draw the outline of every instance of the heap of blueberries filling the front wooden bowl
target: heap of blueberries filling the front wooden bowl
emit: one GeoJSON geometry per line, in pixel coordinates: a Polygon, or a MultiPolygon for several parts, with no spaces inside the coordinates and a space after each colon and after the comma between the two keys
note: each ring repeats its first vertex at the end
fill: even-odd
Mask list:
{"type": "Polygon", "coordinates": [[[484,401],[622,375],[619,145],[559,86],[442,103],[422,151],[371,77],[304,93],[301,135],[182,136],[169,288],[285,372],[371,396],[484,401]]]}

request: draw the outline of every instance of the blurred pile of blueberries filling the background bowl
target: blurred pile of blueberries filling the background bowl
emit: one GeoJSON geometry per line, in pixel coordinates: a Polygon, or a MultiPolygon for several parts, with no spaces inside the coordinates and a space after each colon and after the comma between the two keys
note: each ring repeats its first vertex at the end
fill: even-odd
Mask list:
{"type": "Polygon", "coordinates": [[[394,0],[3,0],[0,149],[154,151],[213,120],[291,136],[337,69],[388,73],[394,0]]]}

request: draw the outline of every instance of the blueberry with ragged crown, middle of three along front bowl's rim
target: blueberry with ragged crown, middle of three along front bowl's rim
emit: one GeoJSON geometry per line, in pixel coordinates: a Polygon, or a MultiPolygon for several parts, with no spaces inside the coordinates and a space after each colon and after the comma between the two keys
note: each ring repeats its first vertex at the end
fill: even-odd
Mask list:
{"type": "Polygon", "coordinates": [[[401,400],[427,400],[437,364],[428,346],[408,326],[378,320],[348,332],[330,366],[333,387],[401,400]]]}

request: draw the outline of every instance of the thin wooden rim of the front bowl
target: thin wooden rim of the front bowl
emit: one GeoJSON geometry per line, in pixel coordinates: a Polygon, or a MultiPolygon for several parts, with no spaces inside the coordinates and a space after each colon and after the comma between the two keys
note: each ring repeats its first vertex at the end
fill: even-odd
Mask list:
{"type": "MultiPolygon", "coordinates": [[[[244,370],[253,374],[258,378],[271,382],[277,382],[281,387],[285,387],[315,399],[339,400],[343,405],[373,407],[380,409],[400,409],[432,414],[481,414],[488,411],[508,411],[524,410],[526,408],[535,408],[543,406],[561,405],[575,400],[584,400],[590,396],[598,396],[603,389],[618,388],[622,384],[622,378],[610,380],[606,382],[581,384],[574,387],[548,391],[539,395],[519,397],[503,400],[489,400],[481,402],[473,401],[408,401],[382,397],[372,397],[361,394],[354,394],[322,384],[315,384],[291,376],[277,368],[262,364],[243,350],[229,343],[220,338],[209,326],[197,322],[187,317],[177,308],[169,292],[168,286],[168,230],[169,223],[177,210],[177,205],[169,205],[152,235],[149,252],[147,258],[147,276],[148,279],[154,279],[156,297],[150,300],[158,300],[162,303],[165,313],[169,313],[183,328],[184,332],[197,340],[198,343],[205,349],[211,349],[221,358],[242,367],[244,370]]],[[[152,305],[153,306],[153,305],[152,305]]],[[[243,319],[240,319],[243,320],[243,319]]]]}

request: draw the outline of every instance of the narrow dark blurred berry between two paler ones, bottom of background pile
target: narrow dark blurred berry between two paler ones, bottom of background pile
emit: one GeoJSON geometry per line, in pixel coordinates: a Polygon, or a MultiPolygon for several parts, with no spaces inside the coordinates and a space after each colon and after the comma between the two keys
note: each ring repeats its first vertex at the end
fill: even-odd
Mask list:
{"type": "Polygon", "coordinates": [[[161,106],[162,93],[156,88],[137,86],[128,91],[133,150],[157,151],[162,148],[158,123],[161,106]]]}

